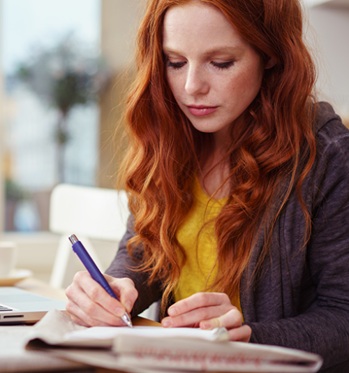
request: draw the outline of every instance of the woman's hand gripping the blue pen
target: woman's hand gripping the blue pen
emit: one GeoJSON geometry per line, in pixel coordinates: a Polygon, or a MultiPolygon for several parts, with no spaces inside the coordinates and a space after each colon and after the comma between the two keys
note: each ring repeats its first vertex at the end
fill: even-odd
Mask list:
{"type": "Polygon", "coordinates": [[[131,279],[104,277],[120,301],[112,298],[87,271],[77,272],[73,283],[66,288],[66,310],[76,323],[82,326],[125,326],[121,316],[125,311],[131,312],[138,291],[131,279]]]}

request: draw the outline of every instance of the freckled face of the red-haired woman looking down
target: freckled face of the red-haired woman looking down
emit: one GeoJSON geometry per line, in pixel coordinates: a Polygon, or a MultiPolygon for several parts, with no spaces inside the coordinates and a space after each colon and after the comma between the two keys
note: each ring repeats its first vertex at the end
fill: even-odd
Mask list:
{"type": "Polygon", "coordinates": [[[221,10],[194,1],[165,14],[168,83],[193,126],[226,139],[260,90],[264,66],[221,10]]]}

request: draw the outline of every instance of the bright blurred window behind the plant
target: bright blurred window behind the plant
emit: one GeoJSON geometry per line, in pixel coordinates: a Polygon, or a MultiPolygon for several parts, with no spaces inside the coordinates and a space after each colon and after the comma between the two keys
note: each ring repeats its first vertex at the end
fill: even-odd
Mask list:
{"type": "Polygon", "coordinates": [[[70,96],[82,84],[96,93],[96,80],[87,79],[99,73],[101,81],[107,74],[100,18],[100,0],[1,0],[7,231],[47,230],[50,191],[57,182],[96,184],[96,96],[70,96]],[[58,105],[47,94],[52,82],[61,101],[76,103],[68,112],[66,103],[58,105]]]}

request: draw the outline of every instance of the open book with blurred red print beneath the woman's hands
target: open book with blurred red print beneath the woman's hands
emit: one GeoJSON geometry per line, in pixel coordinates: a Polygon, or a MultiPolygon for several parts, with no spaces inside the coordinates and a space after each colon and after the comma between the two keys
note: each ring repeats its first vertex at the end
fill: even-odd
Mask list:
{"type": "Polygon", "coordinates": [[[318,372],[322,358],[279,346],[230,342],[225,328],[78,326],[52,310],[32,328],[27,348],[124,372],[318,372]]]}

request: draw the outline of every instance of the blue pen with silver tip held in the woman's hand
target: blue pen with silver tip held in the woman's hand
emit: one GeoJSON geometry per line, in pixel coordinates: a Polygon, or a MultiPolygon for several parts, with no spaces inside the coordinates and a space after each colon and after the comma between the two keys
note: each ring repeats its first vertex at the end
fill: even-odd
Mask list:
{"type": "MultiPolygon", "coordinates": [[[[119,298],[117,298],[117,295],[115,295],[114,291],[112,291],[112,288],[107,283],[107,280],[102,275],[101,271],[98,270],[96,263],[94,263],[91,256],[89,256],[89,253],[84,248],[84,245],[79,240],[77,240],[76,235],[70,235],[69,240],[71,244],[73,245],[73,251],[80,258],[80,261],[82,261],[82,264],[89,271],[89,274],[91,275],[91,277],[95,281],[97,281],[98,284],[103,286],[105,291],[107,291],[107,293],[110,296],[112,296],[112,298],[119,300],[119,298]]],[[[133,327],[131,318],[130,316],[128,316],[127,312],[124,314],[124,316],[121,317],[121,319],[124,321],[124,323],[126,323],[127,326],[129,326],[130,328],[133,327]]]]}

